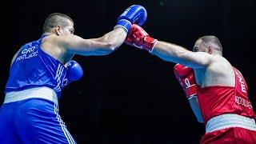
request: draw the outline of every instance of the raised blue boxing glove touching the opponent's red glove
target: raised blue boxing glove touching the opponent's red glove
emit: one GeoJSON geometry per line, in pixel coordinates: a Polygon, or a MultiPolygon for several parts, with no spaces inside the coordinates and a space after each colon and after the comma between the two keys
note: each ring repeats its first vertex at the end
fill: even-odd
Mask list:
{"type": "Polygon", "coordinates": [[[118,17],[118,22],[114,29],[122,27],[128,33],[132,24],[135,23],[142,26],[146,22],[146,17],[146,9],[143,6],[130,6],[118,17]]]}

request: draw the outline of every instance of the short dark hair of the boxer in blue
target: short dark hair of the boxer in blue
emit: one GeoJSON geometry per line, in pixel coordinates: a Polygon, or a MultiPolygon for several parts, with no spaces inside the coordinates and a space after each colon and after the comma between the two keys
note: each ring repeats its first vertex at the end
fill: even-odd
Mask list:
{"type": "Polygon", "coordinates": [[[73,20],[66,14],[61,14],[61,13],[50,14],[46,18],[43,24],[42,33],[49,32],[52,28],[58,25],[62,27],[67,26],[68,22],[66,21],[66,19],[69,19],[72,23],[74,23],[73,20]]]}

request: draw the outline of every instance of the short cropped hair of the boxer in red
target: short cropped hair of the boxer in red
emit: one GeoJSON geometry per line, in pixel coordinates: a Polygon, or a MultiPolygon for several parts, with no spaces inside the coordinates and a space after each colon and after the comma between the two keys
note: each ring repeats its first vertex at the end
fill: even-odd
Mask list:
{"type": "Polygon", "coordinates": [[[202,40],[202,44],[204,44],[205,46],[208,46],[209,44],[213,45],[213,48],[215,50],[219,50],[222,52],[222,44],[221,42],[218,40],[217,37],[213,36],[213,35],[206,35],[203,36],[201,38],[199,38],[202,40]]]}

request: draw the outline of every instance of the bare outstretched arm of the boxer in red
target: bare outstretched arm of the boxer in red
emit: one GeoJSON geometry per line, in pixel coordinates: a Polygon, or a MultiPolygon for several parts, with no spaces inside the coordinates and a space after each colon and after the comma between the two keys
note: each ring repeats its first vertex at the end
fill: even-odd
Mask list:
{"type": "Polygon", "coordinates": [[[209,65],[211,56],[203,52],[192,52],[182,46],[169,42],[159,41],[154,46],[152,54],[167,62],[180,63],[191,68],[200,68],[209,65]]]}

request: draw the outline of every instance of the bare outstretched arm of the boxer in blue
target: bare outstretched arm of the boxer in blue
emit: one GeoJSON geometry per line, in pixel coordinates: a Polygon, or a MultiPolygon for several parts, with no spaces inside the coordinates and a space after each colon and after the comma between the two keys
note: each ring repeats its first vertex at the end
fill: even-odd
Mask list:
{"type": "Polygon", "coordinates": [[[84,39],[76,35],[60,36],[58,43],[70,54],[106,55],[118,49],[126,38],[126,31],[117,28],[101,38],[84,39]]]}

